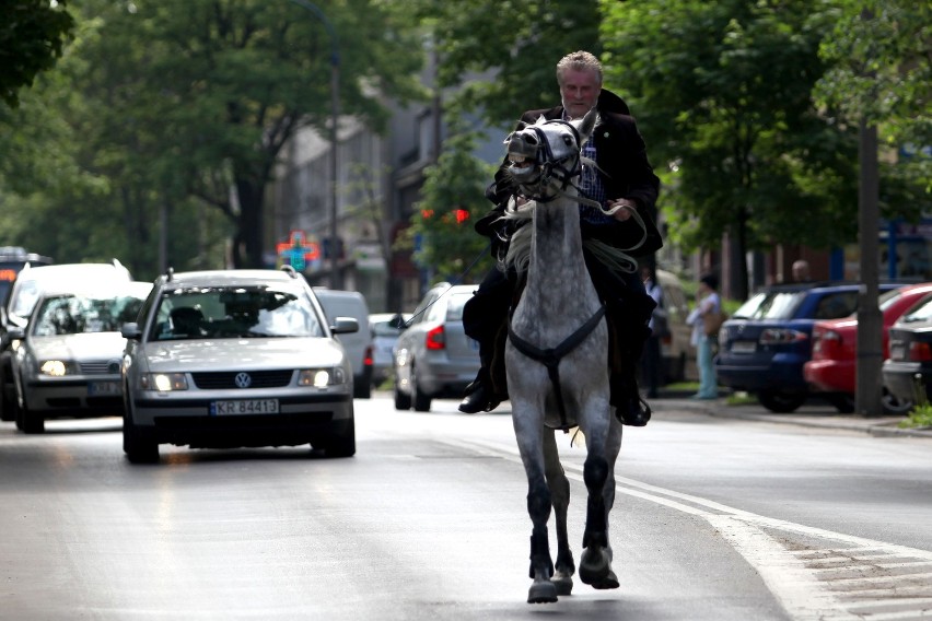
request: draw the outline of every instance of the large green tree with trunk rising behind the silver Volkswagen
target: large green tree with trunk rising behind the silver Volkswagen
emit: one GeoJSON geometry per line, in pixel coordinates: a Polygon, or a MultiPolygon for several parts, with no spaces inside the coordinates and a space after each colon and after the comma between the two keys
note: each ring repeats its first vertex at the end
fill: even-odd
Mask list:
{"type": "MultiPolygon", "coordinates": [[[[420,47],[391,3],[321,4],[343,33],[340,112],[380,129],[384,101],[419,94],[420,47]]],[[[83,89],[100,114],[96,164],[127,197],[148,188],[171,209],[191,196],[218,209],[233,226],[234,265],[260,266],[279,152],[302,127],[326,133],[330,118],[324,24],[288,0],[98,0],[88,14],[100,21],[83,50],[83,89]]]]}

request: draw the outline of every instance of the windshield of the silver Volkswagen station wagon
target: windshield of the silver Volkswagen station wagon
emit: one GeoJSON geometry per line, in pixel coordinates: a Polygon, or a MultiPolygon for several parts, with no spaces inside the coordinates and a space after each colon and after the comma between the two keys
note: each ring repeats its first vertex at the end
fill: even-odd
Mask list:
{"type": "Polygon", "coordinates": [[[321,320],[303,291],[254,285],[163,292],[150,339],[323,336],[321,320]]]}

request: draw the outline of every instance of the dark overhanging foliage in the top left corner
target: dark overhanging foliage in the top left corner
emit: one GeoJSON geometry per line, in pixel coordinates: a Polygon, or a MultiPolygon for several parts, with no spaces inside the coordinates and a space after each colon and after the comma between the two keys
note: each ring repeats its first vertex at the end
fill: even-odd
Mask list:
{"type": "Polygon", "coordinates": [[[55,66],[74,28],[67,0],[0,0],[0,99],[20,104],[19,91],[55,66]]]}

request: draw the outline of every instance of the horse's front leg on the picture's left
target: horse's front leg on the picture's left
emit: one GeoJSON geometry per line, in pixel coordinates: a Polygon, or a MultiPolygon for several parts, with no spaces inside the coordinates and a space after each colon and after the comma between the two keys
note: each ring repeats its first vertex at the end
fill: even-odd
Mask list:
{"type": "Polygon", "coordinates": [[[544,425],[540,417],[524,403],[512,405],[517,448],[524,471],[527,474],[527,513],[531,516],[531,578],[534,583],[527,593],[528,604],[557,601],[557,586],[550,582],[554,561],[547,536],[550,518],[550,490],[547,487],[544,466],[544,425]]]}

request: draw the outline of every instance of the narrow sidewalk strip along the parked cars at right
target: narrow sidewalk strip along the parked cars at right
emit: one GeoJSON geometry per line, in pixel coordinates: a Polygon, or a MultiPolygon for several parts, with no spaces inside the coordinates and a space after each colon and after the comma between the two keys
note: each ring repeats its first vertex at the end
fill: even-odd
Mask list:
{"type": "Polygon", "coordinates": [[[793,424],[812,427],[830,427],[858,431],[877,437],[909,436],[932,438],[932,429],[899,429],[902,417],[861,417],[858,414],[841,414],[834,407],[808,401],[790,414],[777,414],[757,403],[729,406],[725,397],[714,400],[690,399],[684,395],[664,395],[650,400],[655,412],[687,411],[730,419],[766,421],[771,423],[793,424]]]}

